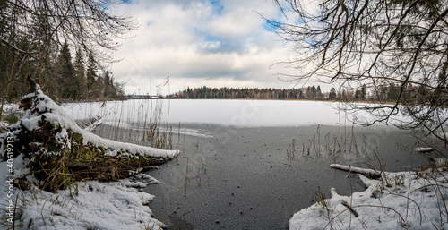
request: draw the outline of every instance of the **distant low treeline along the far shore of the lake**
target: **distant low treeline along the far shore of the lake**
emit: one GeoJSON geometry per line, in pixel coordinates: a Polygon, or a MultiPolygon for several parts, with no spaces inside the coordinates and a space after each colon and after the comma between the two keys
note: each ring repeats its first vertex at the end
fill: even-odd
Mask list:
{"type": "Polygon", "coordinates": [[[398,97],[417,100],[415,103],[425,104],[428,94],[438,94],[439,98],[444,98],[444,104],[448,104],[448,95],[443,92],[434,91],[422,86],[407,84],[401,93],[401,86],[393,83],[377,86],[375,89],[368,89],[366,85],[358,88],[337,90],[330,89],[329,92],[323,92],[321,87],[308,86],[299,89],[249,89],[249,88],[189,88],[169,95],[169,98],[189,98],[189,99],[208,99],[208,98],[255,98],[255,99],[310,99],[310,100],[341,100],[341,101],[396,101],[398,97]]]}

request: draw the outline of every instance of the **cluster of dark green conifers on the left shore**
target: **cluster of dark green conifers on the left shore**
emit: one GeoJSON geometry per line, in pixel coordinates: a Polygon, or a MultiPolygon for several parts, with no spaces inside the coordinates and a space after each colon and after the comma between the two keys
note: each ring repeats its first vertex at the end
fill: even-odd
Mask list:
{"type": "MultiPolygon", "coordinates": [[[[24,43],[22,46],[29,46],[24,43]]],[[[8,47],[2,46],[3,55],[13,54],[8,47]],[[6,50],[5,50],[6,49],[6,50]]],[[[56,101],[80,101],[98,98],[117,99],[125,95],[123,86],[114,80],[112,72],[99,71],[99,64],[93,55],[83,54],[82,49],[76,50],[74,59],[69,45],[65,42],[60,50],[47,54],[46,66],[39,70],[41,60],[29,60],[27,66],[22,67],[22,77],[11,81],[6,98],[14,101],[26,94],[29,86],[23,81],[31,72],[39,70],[39,85],[43,91],[56,101]]],[[[25,55],[16,54],[12,60],[23,60],[25,55]]],[[[7,72],[8,70],[2,70],[7,72]]],[[[2,78],[7,74],[1,74],[2,78]]],[[[8,81],[8,79],[2,79],[8,81]]],[[[4,84],[6,86],[6,84],[4,84]]]]}

